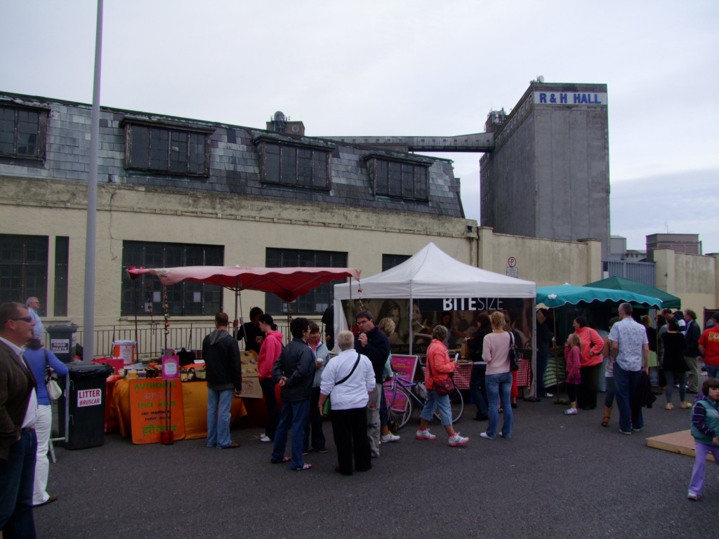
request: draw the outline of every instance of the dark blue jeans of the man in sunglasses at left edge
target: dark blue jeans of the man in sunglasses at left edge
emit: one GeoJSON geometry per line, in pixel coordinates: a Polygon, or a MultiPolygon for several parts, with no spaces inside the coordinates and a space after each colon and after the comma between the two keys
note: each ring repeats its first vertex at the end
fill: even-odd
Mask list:
{"type": "Polygon", "coordinates": [[[35,538],[32,488],[35,482],[35,430],[24,430],[0,460],[0,530],[5,537],[35,538]]]}

